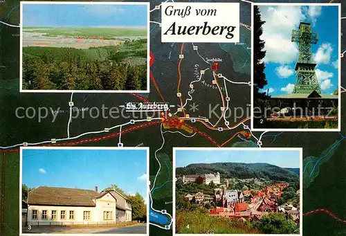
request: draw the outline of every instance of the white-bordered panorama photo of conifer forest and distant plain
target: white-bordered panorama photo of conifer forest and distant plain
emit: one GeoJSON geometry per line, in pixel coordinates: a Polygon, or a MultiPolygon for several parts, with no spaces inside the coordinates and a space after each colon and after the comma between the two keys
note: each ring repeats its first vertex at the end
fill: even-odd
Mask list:
{"type": "Polygon", "coordinates": [[[21,92],[149,92],[149,3],[21,1],[21,92]]]}

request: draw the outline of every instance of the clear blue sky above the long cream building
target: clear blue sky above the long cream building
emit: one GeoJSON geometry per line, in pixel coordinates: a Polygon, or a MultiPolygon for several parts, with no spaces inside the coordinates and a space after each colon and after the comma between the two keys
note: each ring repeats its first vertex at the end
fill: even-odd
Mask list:
{"type": "Polygon", "coordinates": [[[23,149],[22,183],[99,191],[113,183],[147,196],[146,150],[23,149]]]}

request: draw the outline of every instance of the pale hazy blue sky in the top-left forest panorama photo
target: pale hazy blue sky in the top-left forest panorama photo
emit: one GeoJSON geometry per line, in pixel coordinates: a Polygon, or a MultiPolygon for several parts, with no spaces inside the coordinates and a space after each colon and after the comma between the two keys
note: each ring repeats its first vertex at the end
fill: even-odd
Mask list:
{"type": "Polygon", "coordinates": [[[24,4],[23,25],[42,27],[147,26],[145,5],[24,4]]]}

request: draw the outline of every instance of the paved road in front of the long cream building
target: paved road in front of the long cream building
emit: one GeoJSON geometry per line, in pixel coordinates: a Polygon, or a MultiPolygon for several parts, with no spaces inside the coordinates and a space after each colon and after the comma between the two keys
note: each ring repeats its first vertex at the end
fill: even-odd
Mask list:
{"type": "Polygon", "coordinates": [[[45,233],[45,234],[143,234],[147,233],[147,224],[135,224],[133,226],[111,227],[33,227],[30,230],[23,228],[23,233],[45,233]]]}

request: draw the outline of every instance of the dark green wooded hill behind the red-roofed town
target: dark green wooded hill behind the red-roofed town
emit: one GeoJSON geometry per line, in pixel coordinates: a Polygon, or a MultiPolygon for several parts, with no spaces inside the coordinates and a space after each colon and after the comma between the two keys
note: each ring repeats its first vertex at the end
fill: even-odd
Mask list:
{"type": "Polygon", "coordinates": [[[221,178],[262,178],[273,181],[298,182],[299,175],[268,163],[198,163],[176,168],[176,176],[219,172],[221,178]]]}

